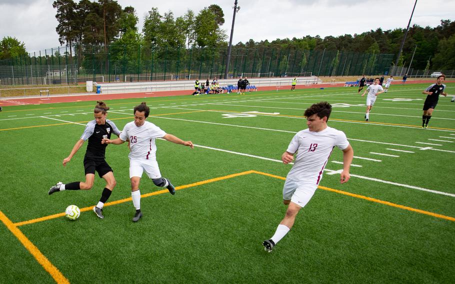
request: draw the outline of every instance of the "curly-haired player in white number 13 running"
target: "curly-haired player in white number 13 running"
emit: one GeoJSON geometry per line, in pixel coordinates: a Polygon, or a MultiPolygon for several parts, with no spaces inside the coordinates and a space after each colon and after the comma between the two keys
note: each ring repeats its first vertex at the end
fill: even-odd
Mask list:
{"type": "Polygon", "coordinates": [[[308,129],[297,132],[281,156],[283,163],[288,164],[296,154],[294,165],[287,174],[283,186],[283,203],[288,205],[286,214],[273,236],[262,242],[268,252],[287,234],[300,208],[313,196],[335,146],[343,151],[340,182],[349,180],[349,167],[354,151],[342,131],[327,126],[330,112],[331,105],[325,101],[308,107],[304,113],[308,129]]]}

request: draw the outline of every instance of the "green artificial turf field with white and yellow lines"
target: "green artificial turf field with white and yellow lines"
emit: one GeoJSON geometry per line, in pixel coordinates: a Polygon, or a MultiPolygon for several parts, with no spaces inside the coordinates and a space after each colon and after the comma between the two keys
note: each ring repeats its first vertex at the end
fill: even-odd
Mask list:
{"type": "Polygon", "coordinates": [[[3,107],[0,282],[453,283],[455,88],[422,129],[426,86],[392,85],[368,122],[354,87],[105,100],[119,129],[145,100],[148,121],[195,144],[156,140],[161,174],[178,190],[170,195],[144,174],[137,223],[126,143],[106,149],[117,186],[104,219],[91,211],[105,184],[98,176],[91,190],[47,194],[57,181],[84,179],[86,143],[61,162],[95,101],[3,107]],[[261,242],[286,209],[291,165],[281,154],[319,101],[332,104],[328,125],[354,149],[351,178],[339,183],[335,149],[321,188],[267,253],[261,242]],[[82,210],[75,221],[63,216],[69,204],[82,210]]]}

